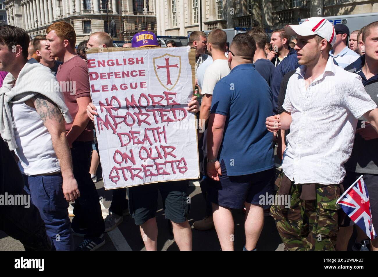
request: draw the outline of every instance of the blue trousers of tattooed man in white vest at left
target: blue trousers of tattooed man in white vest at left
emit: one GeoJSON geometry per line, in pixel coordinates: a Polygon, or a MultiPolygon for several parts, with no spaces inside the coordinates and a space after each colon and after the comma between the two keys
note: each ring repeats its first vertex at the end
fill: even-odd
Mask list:
{"type": "Polygon", "coordinates": [[[64,198],[60,173],[43,176],[26,176],[25,191],[31,195],[31,201],[39,210],[45,222],[46,232],[51,239],[53,249],[73,251],[74,241],[71,221],[68,217],[68,202],[64,198]]]}

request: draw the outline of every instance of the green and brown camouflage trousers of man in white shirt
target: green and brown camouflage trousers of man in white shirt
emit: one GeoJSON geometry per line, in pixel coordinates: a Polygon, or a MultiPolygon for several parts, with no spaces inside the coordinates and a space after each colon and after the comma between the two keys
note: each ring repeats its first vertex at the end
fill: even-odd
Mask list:
{"type": "MultiPolygon", "coordinates": [[[[285,178],[290,181],[283,174],[282,180],[285,178]]],[[[335,250],[339,185],[315,184],[316,200],[304,201],[299,198],[302,185],[290,182],[290,207],[275,203],[270,209],[286,248],[289,251],[335,250]]],[[[279,186],[279,182],[276,185],[279,186]]],[[[277,195],[280,195],[280,189],[277,190],[277,195]]]]}

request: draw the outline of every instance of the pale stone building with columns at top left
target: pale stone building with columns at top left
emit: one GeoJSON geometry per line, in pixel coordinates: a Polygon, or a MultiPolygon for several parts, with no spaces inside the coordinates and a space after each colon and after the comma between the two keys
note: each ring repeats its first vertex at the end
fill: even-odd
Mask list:
{"type": "Polygon", "coordinates": [[[142,29],[156,31],[155,0],[5,0],[3,4],[9,24],[31,37],[64,20],[74,27],[79,44],[93,32],[107,32],[112,17],[117,29],[114,40],[130,40],[142,29]]]}

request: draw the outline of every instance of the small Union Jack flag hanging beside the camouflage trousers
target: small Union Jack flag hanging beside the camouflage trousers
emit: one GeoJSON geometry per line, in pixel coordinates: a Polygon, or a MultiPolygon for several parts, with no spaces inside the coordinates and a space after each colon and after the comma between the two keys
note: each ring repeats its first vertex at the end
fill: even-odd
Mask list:
{"type": "Polygon", "coordinates": [[[369,193],[361,175],[337,200],[345,214],[373,240],[376,233],[372,224],[369,193]]]}

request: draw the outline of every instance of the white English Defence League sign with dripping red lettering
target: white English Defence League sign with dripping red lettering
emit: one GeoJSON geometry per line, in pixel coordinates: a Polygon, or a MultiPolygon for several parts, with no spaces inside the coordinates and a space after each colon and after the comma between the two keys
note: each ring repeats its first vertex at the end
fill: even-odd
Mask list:
{"type": "Polygon", "coordinates": [[[87,51],[105,189],[199,177],[196,118],[186,110],[195,51],[87,51]]]}

